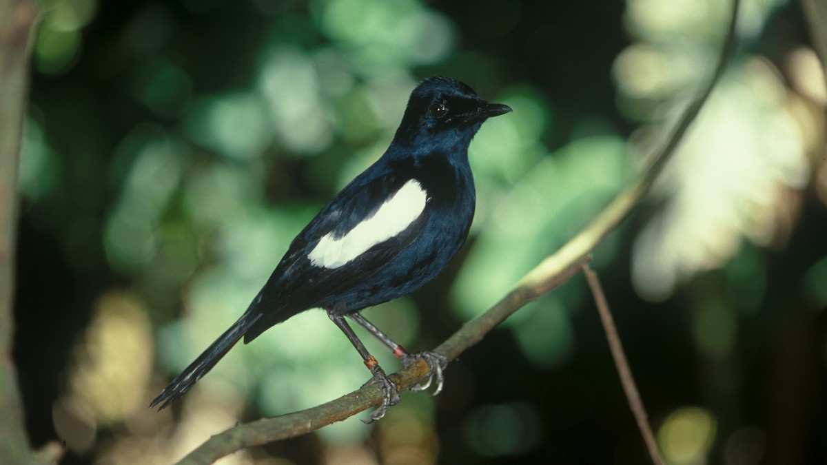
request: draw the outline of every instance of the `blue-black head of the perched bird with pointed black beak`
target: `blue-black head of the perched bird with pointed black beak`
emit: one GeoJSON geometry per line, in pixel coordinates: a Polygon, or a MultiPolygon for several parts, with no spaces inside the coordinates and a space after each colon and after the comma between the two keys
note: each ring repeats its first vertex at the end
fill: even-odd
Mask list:
{"type": "Polygon", "coordinates": [[[394,144],[467,149],[482,122],[510,111],[507,105],[486,102],[468,84],[434,76],[411,93],[394,144]]]}

